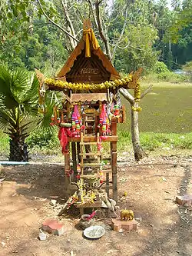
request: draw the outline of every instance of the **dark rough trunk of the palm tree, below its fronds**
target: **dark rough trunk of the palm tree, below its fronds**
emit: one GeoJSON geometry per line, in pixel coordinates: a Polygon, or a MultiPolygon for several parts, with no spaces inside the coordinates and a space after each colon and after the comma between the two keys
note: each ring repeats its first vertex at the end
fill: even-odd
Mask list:
{"type": "Polygon", "coordinates": [[[15,133],[9,140],[9,161],[28,161],[28,148],[25,136],[15,133]]]}

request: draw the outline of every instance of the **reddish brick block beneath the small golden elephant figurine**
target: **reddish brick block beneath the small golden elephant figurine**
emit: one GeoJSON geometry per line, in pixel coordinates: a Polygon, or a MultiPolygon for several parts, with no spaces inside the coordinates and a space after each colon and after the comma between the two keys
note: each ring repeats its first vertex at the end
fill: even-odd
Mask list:
{"type": "Polygon", "coordinates": [[[120,231],[123,228],[126,231],[137,231],[137,221],[121,221],[120,219],[113,218],[111,220],[114,231],[120,231]]]}

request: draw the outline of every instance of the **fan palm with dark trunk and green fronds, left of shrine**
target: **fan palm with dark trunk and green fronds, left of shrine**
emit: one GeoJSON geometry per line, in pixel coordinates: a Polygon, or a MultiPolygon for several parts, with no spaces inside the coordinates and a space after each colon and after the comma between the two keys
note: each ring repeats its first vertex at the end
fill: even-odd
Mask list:
{"type": "Polygon", "coordinates": [[[0,128],[10,140],[9,161],[28,161],[25,138],[38,115],[38,79],[18,68],[0,65],[0,128]]]}

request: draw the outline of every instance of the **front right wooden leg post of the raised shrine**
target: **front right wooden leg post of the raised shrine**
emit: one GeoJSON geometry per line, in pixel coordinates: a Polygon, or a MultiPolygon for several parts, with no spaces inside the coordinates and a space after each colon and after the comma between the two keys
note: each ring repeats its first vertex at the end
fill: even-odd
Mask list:
{"type": "Polygon", "coordinates": [[[117,168],[117,142],[111,142],[111,170],[113,181],[113,198],[118,201],[118,168],[117,168]]]}

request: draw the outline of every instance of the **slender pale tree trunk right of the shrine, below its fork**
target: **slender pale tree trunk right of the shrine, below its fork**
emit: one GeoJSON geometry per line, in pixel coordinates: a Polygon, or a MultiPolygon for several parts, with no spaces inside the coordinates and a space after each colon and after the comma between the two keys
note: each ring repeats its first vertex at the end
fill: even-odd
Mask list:
{"type": "Polygon", "coordinates": [[[131,104],[131,137],[134,148],[134,159],[135,161],[140,161],[146,156],[146,153],[140,145],[138,111],[133,110],[133,108],[138,108],[138,102],[131,104]]]}

